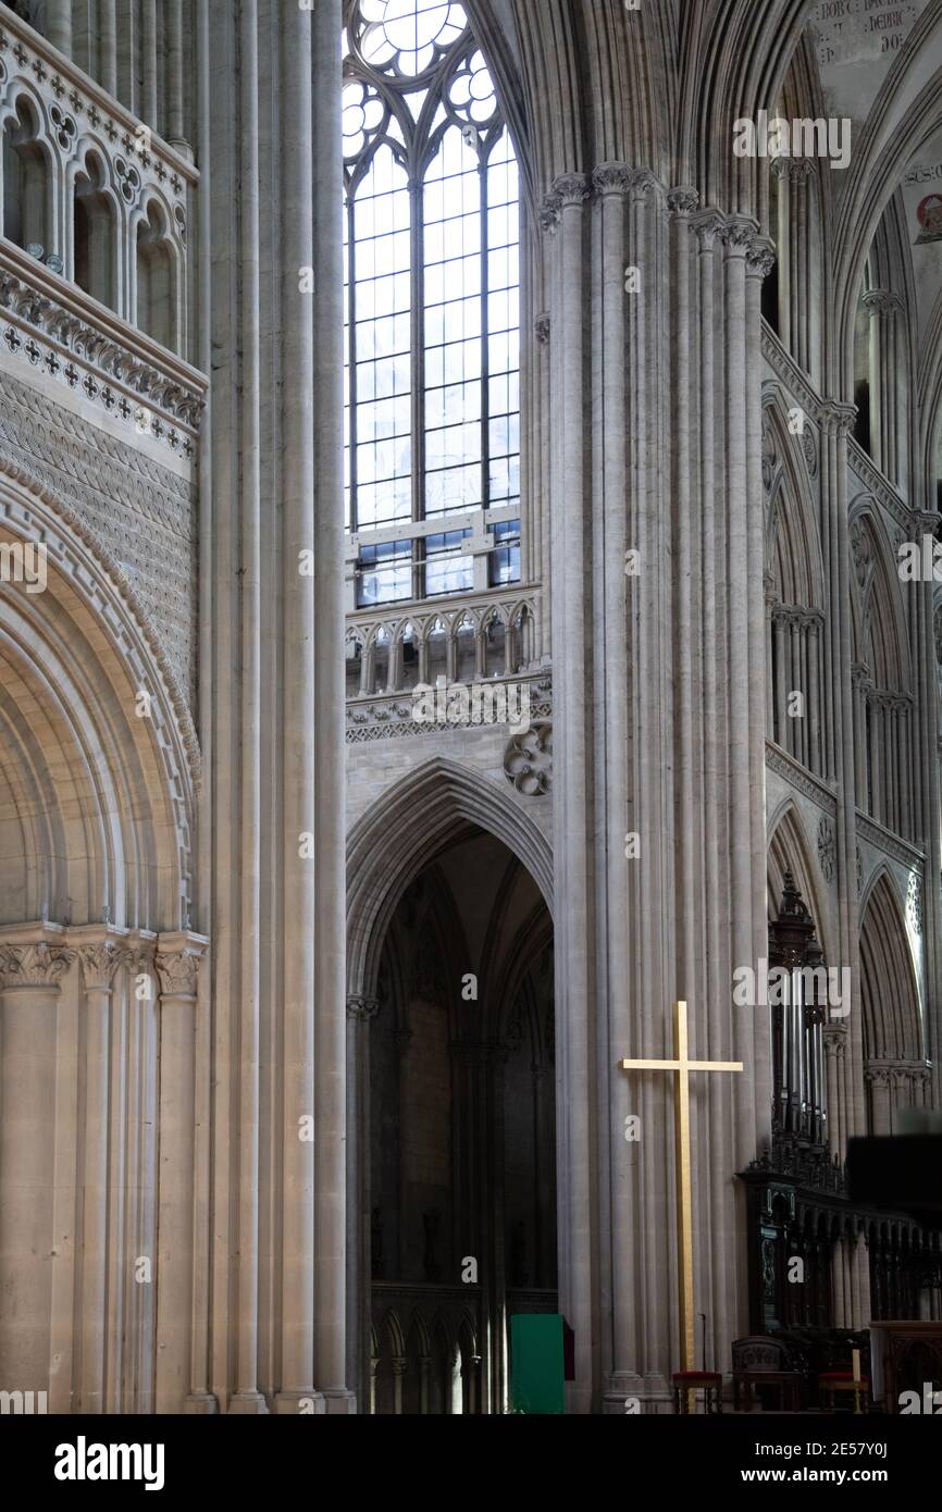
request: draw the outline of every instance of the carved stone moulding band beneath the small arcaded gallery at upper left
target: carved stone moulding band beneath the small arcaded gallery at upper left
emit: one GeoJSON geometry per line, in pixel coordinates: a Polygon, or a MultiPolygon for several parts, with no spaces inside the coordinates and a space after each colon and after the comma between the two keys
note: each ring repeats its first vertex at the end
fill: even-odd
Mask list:
{"type": "Polygon", "coordinates": [[[0,358],[9,352],[129,432],[194,455],[206,378],[12,243],[0,246],[0,358]]]}

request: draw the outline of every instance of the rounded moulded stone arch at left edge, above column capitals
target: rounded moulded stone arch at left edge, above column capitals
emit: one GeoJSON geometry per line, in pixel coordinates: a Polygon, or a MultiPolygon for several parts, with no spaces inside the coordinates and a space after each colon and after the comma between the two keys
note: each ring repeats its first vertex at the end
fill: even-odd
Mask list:
{"type": "Polygon", "coordinates": [[[45,576],[0,585],[0,922],[187,928],[198,748],[156,638],[80,522],[6,464],[0,544],[8,576],[45,576]]]}

